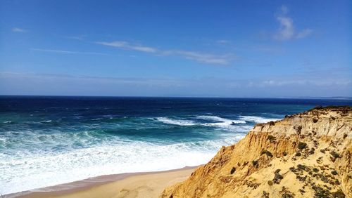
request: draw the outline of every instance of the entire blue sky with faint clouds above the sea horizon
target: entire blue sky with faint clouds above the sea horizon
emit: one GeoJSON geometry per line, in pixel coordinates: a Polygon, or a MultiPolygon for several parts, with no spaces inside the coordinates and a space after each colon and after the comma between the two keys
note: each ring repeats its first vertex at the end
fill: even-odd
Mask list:
{"type": "Polygon", "coordinates": [[[352,96],[352,1],[0,1],[0,95],[352,96]]]}

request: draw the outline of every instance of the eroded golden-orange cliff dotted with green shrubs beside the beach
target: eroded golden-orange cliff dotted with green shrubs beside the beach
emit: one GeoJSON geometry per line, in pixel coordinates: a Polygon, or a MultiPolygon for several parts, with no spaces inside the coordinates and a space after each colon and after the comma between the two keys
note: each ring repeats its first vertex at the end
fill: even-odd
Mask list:
{"type": "Polygon", "coordinates": [[[257,124],[161,197],[352,197],[352,108],[257,124]]]}

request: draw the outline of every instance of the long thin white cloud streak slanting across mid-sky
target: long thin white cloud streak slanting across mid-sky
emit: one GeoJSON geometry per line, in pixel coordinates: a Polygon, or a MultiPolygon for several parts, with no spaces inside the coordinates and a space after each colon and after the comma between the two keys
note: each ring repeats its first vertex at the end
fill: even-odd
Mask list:
{"type": "Polygon", "coordinates": [[[184,50],[161,50],[151,46],[142,46],[136,44],[130,44],[127,41],[111,41],[111,42],[96,42],[104,46],[113,46],[115,48],[121,48],[124,50],[142,51],[144,53],[152,53],[153,55],[175,55],[189,60],[195,60],[206,64],[213,65],[228,65],[231,60],[234,59],[234,55],[216,55],[213,53],[202,53],[199,51],[184,51],[184,50]]]}

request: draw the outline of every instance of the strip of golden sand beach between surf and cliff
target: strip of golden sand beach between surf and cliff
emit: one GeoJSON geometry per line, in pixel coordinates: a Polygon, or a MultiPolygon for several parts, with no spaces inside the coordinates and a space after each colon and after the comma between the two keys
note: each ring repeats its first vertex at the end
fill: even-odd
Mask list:
{"type": "MultiPolygon", "coordinates": [[[[199,166],[203,166],[203,164],[199,166]]],[[[182,178],[188,178],[188,176],[199,166],[184,166],[184,168],[181,169],[170,169],[167,171],[103,175],[87,178],[84,180],[77,180],[70,183],[37,188],[34,190],[4,194],[3,196],[4,198],[85,197],[84,194],[89,193],[90,197],[104,197],[104,194],[106,193],[106,195],[114,194],[115,197],[118,197],[118,194],[128,194],[128,192],[132,192],[132,194],[138,194],[138,190],[141,190],[139,189],[141,187],[148,187],[149,191],[157,191],[159,188],[161,188],[162,191],[166,186],[180,182],[182,181],[182,178]],[[160,180],[160,183],[154,180],[160,180]],[[147,186],[146,183],[148,182],[153,183],[153,186],[147,186]],[[132,183],[134,187],[131,187],[131,185],[129,185],[130,183],[132,183]],[[134,189],[128,190],[126,187],[134,189]],[[120,191],[118,190],[119,188],[121,188],[120,191]],[[114,189],[115,192],[113,192],[114,189]]],[[[153,194],[156,193],[157,192],[153,192],[153,194]]],[[[161,192],[158,192],[158,194],[160,193],[161,192]]]]}

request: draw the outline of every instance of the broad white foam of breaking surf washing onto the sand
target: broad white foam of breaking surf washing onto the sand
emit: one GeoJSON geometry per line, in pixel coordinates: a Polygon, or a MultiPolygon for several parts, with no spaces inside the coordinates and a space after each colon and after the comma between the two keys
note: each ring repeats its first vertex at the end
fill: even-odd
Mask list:
{"type": "Polygon", "coordinates": [[[162,171],[204,164],[222,145],[230,145],[242,137],[234,135],[225,140],[169,145],[116,139],[64,152],[0,155],[0,193],[32,190],[113,173],[162,171]]]}

